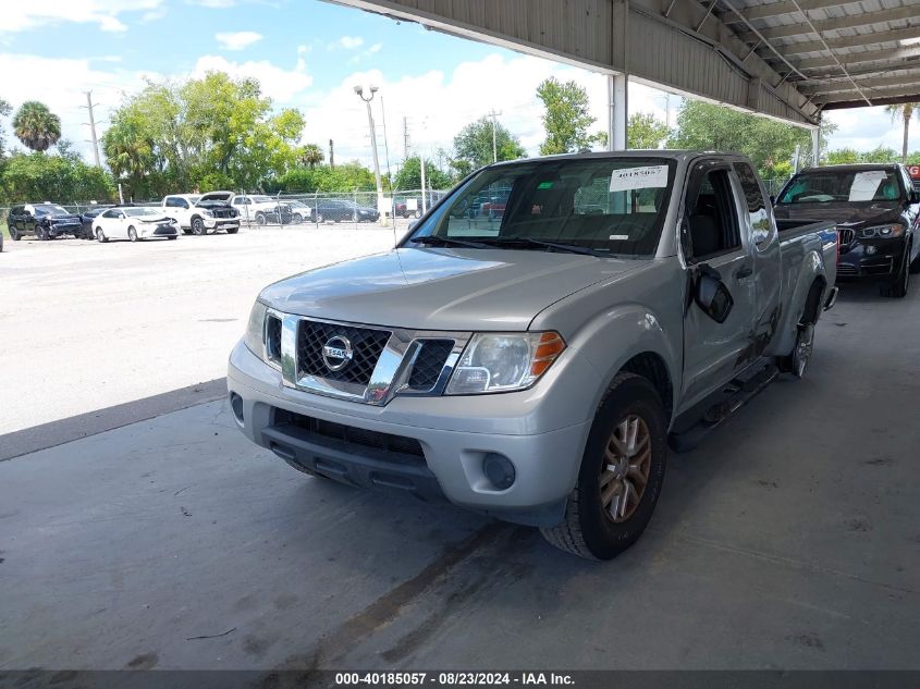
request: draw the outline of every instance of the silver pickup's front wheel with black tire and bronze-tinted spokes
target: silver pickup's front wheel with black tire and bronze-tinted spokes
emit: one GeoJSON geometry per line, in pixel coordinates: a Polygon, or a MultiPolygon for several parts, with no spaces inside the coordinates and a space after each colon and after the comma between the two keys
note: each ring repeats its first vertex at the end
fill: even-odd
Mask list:
{"type": "Polygon", "coordinates": [[[594,416],[565,516],[541,529],[543,537],[580,557],[615,557],[648,526],[666,462],[667,421],[658,391],[641,376],[617,373],[594,416]],[[624,445],[629,435],[634,442],[624,445]]]}

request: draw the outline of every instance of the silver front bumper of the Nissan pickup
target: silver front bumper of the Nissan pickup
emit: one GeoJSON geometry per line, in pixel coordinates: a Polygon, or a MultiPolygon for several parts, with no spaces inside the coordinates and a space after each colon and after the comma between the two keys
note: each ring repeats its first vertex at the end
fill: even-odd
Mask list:
{"type": "MultiPolygon", "coordinates": [[[[571,361],[567,369],[562,386],[581,386],[584,392],[597,384],[597,373],[584,361],[571,361]]],[[[324,397],[284,387],[280,372],[242,343],[230,357],[228,389],[242,413],[234,414],[241,430],[289,464],[354,485],[400,490],[429,501],[443,497],[531,526],[552,526],[562,518],[591,423],[591,415],[566,422],[572,421],[568,404],[559,409],[562,426],[533,428],[535,419],[554,411],[545,408],[551,395],[536,389],[397,396],[383,407],[324,397]],[[510,415],[513,408],[520,414],[510,415]],[[402,452],[407,444],[417,444],[418,454],[402,452]],[[511,488],[499,490],[487,478],[482,465],[490,453],[514,465],[511,488]]],[[[568,398],[568,392],[561,391],[557,398],[568,398]]]]}

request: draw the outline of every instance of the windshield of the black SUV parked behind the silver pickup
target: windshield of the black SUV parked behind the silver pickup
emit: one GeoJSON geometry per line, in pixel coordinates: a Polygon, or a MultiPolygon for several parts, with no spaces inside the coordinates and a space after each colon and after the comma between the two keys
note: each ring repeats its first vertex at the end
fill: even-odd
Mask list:
{"type": "Polygon", "coordinates": [[[780,204],[896,201],[900,186],[893,170],[815,170],[793,177],[780,204]]]}

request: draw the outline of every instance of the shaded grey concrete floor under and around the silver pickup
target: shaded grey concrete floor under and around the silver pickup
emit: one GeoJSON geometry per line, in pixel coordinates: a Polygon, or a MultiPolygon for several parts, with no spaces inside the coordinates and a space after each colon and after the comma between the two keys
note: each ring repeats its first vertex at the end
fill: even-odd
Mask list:
{"type": "Polygon", "coordinates": [[[0,669],[920,668],[918,292],[845,286],[604,564],[302,476],[223,402],[0,462],[0,669]]]}

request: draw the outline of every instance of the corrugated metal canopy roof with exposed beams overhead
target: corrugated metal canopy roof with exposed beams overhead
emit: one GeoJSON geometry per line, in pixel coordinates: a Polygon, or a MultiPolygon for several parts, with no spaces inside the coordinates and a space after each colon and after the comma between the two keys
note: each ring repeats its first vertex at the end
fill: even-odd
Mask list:
{"type": "Polygon", "coordinates": [[[330,0],[814,126],[920,101],[920,0],[330,0]]]}

